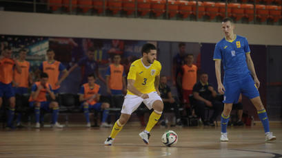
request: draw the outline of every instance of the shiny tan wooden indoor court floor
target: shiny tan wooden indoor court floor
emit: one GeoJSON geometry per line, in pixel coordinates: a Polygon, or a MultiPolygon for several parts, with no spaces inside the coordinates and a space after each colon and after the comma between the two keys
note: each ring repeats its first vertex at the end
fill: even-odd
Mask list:
{"type": "Polygon", "coordinates": [[[271,126],[277,139],[264,142],[262,126],[228,127],[230,142],[219,142],[219,127],[153,128],[147,146],[139,137],[141,126],[125,126],[112,146],[104,146],[110,128],[70,126],[63,129],[0,130],[1,158],[143,158],[143,157],[282,157],[282,124],[271,126]],[[161,143],[166,130],[175,131],[174,147],[161,143]]]}

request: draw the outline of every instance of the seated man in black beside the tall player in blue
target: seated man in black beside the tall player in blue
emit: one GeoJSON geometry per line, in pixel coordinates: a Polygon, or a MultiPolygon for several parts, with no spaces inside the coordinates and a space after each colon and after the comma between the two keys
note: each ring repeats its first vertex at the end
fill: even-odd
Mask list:
{"type": "MultiPolygon", "coordinates": [[[[208,74],[201,74],[200,81],[193,87],[193,95],[195,99],[195,112],[201,117],[203,124],[214,126],[214,120],[221,113],[223,103],[216,100],[217,93],[214,91],[212,84],[208,83],[208,74]],[[214,109],[214,113],[210,120],[205,120],[205,107],[214,109]]],[[[208,119],[208,118],[207,118],[208,119]]]]}

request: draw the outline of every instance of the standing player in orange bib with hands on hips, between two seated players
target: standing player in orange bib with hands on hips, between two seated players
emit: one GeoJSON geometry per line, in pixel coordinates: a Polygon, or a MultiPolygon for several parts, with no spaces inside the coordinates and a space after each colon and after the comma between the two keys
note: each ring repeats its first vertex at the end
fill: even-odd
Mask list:
{"type": "Polygon", "coordinates": [[[47,50],[47,61],[43,61],[43,63],[39,66],[39,70],[48,74],[48,83],[51,84],[51,87],[54,91],[54,94],[59,93],[59,87],[61,82],[66,79],[68,76],[68,70],[63,64],[57,60],[54,60],[54,50],[47,50]],[[63,73],[61,78],[59,79],[59,74],[63,73]]]}

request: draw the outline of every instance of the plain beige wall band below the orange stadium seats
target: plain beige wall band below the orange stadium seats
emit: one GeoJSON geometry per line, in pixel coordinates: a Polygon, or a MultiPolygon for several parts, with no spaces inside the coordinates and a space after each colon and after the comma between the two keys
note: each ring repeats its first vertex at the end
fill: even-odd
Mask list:
{"type": "MultiPolygon", "coordinates": [[[[216,43],[220,23],[0,11],[0,34],[216,43]]],[[[250,44],[282,45],[282,26],[237,24],[250,44]]]]}

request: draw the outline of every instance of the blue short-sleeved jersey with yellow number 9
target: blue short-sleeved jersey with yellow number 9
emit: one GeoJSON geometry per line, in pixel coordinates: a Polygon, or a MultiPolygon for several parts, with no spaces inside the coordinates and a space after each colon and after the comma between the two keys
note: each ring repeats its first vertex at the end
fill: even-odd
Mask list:
{"type": "Polygon", "coordinates": [[[247,39],[237,35],[234,41],[223,38],[216,43],[214,60],[222,60],[225,79],[236,80],[250,73],[245,58],[248,53],[250,47],[247,39]]]}

